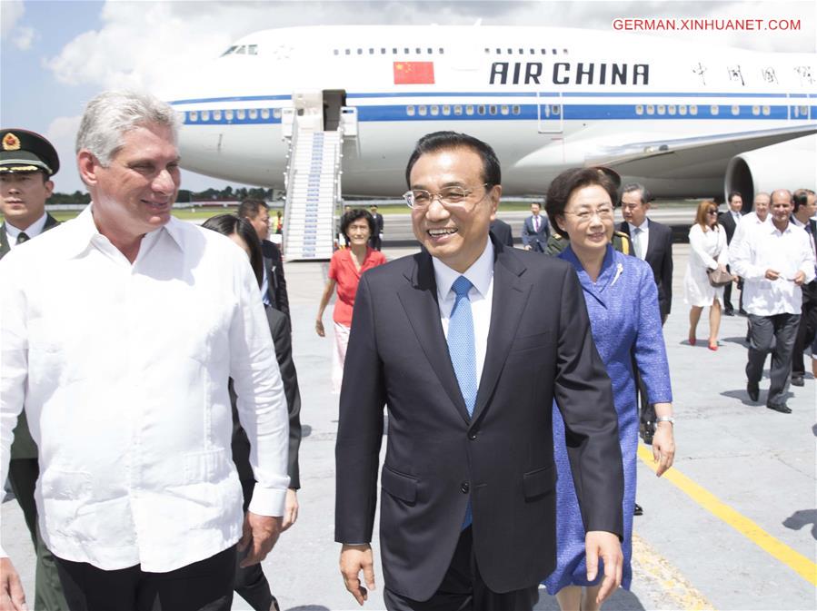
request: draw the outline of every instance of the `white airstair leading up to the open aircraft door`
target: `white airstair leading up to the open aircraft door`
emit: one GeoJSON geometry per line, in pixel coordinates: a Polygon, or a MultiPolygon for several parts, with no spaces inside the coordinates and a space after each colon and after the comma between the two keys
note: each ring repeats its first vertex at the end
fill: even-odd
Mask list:
{"type": "Polygon", "coordinates": [[[341,200],[343,126],[336,131],[310,129],[295,115],[286,169],[284,258],[311,261],[332,258],[335,219],[341,200]]]}

